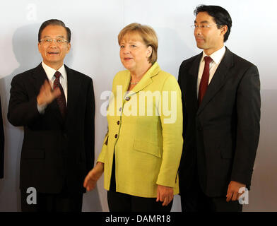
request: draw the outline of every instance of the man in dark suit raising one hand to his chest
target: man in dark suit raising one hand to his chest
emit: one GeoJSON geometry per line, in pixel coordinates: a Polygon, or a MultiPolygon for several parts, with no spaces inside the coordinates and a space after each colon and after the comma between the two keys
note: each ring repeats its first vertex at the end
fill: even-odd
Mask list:
{"type": "Polygon", "coordinates": [[[11,81],[8,121],[24,126],[23,211],[82,208],[83,179],[94,163],[95,101],[92,79],[64,65],[70,40],[71,31],[61,20],[42,23],[42,64],[11,81]]]}

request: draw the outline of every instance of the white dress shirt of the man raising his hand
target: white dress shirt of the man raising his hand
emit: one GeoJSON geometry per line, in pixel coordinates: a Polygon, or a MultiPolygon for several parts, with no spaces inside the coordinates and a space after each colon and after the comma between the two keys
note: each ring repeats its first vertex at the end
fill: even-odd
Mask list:
{"type": "MultiPolygon", "coordinates": [[[[54,73],[56,73],[56,70],[47,66],[43,61],[42,61],[42,68],[45,70],[48,81],[51,87],[53,88],[53,83],[54,83],[54,80],[56,79],[56,77],[54,76],[54,73]]],[[[58,71],[59,73],[61,73],[61,76],[59,77],[59,83],[61,83],[61,87],[64,90],[64,96],[66,98],[66,104],[67,104],[67,73],[66,73],[66,69],[64,68],[64,64],[58,69],[58,71]]],[[[47,105],[37,105],[37,109],[40,112],[40,114],[44,113],[46,107],[47,105]]]]}

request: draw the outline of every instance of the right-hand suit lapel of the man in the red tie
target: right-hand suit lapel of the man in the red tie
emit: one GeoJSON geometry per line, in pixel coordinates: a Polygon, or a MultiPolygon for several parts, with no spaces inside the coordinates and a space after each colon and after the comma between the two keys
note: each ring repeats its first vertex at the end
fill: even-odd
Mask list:
{"type": "Polygon", "coordinates": [[[226,47],[225,55],[216,69],[216,73],[213,75],[211,83],[208,85],[204,98],[199,106],[197,114],[200,114],[204,107],[211,101],[211,99],[218,93],[220,88],[225,84],[226,78],[228,78],[228,71],[233,65],[232,52],[226,47]]]}

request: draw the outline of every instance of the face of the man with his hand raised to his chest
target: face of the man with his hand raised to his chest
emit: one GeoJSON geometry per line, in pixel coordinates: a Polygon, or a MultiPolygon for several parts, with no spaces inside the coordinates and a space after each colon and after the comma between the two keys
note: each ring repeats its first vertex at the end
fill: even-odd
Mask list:
{"type": "Polygon", "coordinates": [[[57,40],[67,40],[66,29],[59,25],[48,25],[42,30],[40,39],[52,40],[52,42],[39,42],[38,49],[45,64],[58,70],[64,64],[64,57],[71,47],[69,42],[57,43],[57,40]]]}

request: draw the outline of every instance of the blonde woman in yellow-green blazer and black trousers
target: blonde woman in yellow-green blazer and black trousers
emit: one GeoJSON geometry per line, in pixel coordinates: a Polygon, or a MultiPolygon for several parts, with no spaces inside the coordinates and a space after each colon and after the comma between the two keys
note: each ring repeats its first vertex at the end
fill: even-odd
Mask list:
{"type": "Polygon", "coordinates": [[[110,211],[170,211],[183,143],[179,85],[156,62],[153,28],[131,23],[118,42],[127,70],[114,77],[108,132],[83,185],[92,190],[104,172],[110,211]]]}

